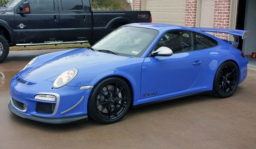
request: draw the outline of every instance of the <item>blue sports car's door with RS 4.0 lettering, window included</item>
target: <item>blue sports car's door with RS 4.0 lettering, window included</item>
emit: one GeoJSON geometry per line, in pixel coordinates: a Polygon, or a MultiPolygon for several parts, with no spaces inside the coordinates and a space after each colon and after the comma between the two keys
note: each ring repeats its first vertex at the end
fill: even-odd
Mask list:
{"type": "Polygon", "coordinates": [[[172,56],[148,56],[142,64],[141,98],[179,92],[190,88],[198,77],[203,56],[193,51],[193,33],[185,30],[166,32],[155,48],[166,46],[172,56]]]}

